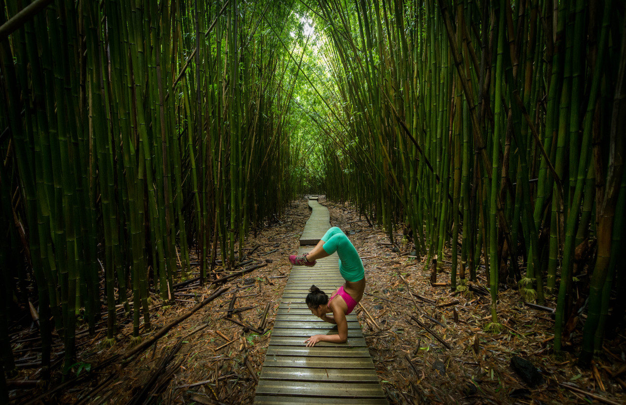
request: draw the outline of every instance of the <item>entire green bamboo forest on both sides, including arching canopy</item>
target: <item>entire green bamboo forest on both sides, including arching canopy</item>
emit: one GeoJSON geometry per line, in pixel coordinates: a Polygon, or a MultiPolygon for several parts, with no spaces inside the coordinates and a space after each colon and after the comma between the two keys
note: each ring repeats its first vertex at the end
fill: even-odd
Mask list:
{"type": "Polygon", "coordinates": [[[77,322],[106,316],[114,344],[123,307],[138,343],[151,295],[172,301],[194,262],[202,282],[232,268],[304,193],[354,204],[426,266],[449,259],[453,291],[484,274],[491,331],[507,287],[555,302],[557,352],[585,311],[588,364],[626,310],[624,13],[0,0],[5,374],[12,309],[32,308],[44,379],[63,336],[69,376],[77,322]]]}

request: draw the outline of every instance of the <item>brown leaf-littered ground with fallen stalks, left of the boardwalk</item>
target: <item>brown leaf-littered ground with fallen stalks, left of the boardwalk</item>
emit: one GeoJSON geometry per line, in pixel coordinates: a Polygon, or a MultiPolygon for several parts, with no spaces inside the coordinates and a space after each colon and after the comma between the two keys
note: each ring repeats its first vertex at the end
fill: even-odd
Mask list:
{"type": "MultiPolygon", "coordinates": [[[[200,287],[195,260],[190,279],[179,281],[173,291],[177,298],[175,305],[164,305],[153,296],[152,328],[144,331],[142,324],[143,342],[150,341],[163,326],[188,314],[218,289],[227,287],[227,291],[180,321],[164,336],[150,341],[150,347],[135,357],[123,363],[110,361],[110,366],[98,369],[98,375],[81,379],[80,383],[55,392],[45,401],[125,403],[148,398],[163,403],[251,403],[280,296],[288,280],[289,254],[297,250],[300,232],[309,216],[307,202],[294,201],[287,207],[286,214],[289,214],[286,221],[272,221],[259,229],[257,237],[249,235],[242,267],[221,272],[219,279],[207,281],[200,287]],[[230,302],[233,302],[231,307],[230,302]]],[[[120,314],[123,315],[123,308],[118,316],[120,314]]],[[[95,335],[81,333],[81,329],[76,332],[79,348],[74,371],[80,368],[79,376],[133,349],[130,346],[132,316],[120,316],[118,320],[121,325],[113,347],[103,344],[105,323],[95,335]]],[[[31,333],[34,330],[13,331],[13,349],[23,351],[16,357],[36,359],[36,347],[41,346],[38,339],[24,341],[22,337],[34,337],[31,333]]],[[[33,384],[24,382],[37,381],[39,371],[37,367],[22,369],[12,379],[11,387],[15,389],[11,396],[16,402],[26,403],[46,392],[43,387],[33,389],[33,384]]],[[[59,374],[57,367],[53,388],[59,383],[59,374]]]]}

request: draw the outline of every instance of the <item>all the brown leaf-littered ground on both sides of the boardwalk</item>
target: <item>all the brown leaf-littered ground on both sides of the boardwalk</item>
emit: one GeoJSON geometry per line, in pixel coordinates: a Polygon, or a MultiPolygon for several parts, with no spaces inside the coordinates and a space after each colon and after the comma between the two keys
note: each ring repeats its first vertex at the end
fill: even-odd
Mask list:
{"type": "MultiPolygon", "coordinates": [[[[505,330],[500,334],[485,332],[491,321],[488,296],[431,286],[430,272],[424,269],[422,258],[404,254],[412,250],[409,246],[400,246],[401,252],[393,252],[382,229],[369,227],[355,209],[324,199],[320,202],[329,208],[331,224],[348,234],[363,258],[367,286],[361,303],[366,311],[357,311],[357,316],[389,402],[550,404],[597,402],[598,398],[626,402],[623,333],[605,342],[605,351],[592,369],[580,369],[575,354],[565,353],[559,359],[552,354],[552,315],[525,306],[519,294],[511,290],[500,293],[498,304],[499,320],[505,324],[505,330]],[[446,349],[424,326],[450,348],[446,349]],[[534,388],[528,386],[511,368],[513,356],[539,367],[544,382],[534,388]]],[[[151,377],[161,375],[153,384],[156,402],[251,403],[267,350],[267,331],[274,324],[287,281],[284,276],[290,271],[287,257],[297,251],[308,216],[306,202],[294,201],[281,222],[270,224],[256,238],[250,235],[246,242],[248,251],[260,244],[249,258],[257,262],[269,259],[267,266],[227,282],[227,292],[173,327],[131,361],[98,370],[100,377],[49,397],[48,401],[128,402],[138,396],[151,377]],[[274,252],[267,254],[270,251],[274,252]],[[251,308],[233,318],[251,327],[259,327],[265,305],[270,302],[264,333],[244,330],[225,319],[235,290],[234,307],[251,308]],[[163,362],[173,349],[177,349],[175,354],[163,362]],[[155,370],[161,364],[165,372],[157,374],[155,370]]],[[[449,282],[450,266],[444,260],[439,282],[449,282]]],[[[484,277],[479,277],[479,284],[486,284],[484,277]]],[[[212,291],[208,287],[177,290],[187,295],[178,295],[177,304],[168,308],[158,299],[153,300],[153,329],[143,338],[150,338],[154,331],[189,311],[212,291]]],[[[548,301],[546,306],[554,304],[548,301]]],[[[103,346],[105,331],[96,336],[81,335],[77,341],[79,364],[95,367],[111,355],[127,351],[132,322],[120,329],[113,347],[103,346]]],[[[574,336],[577,333],[580,330],[574,336]]],[[[575,337],[572,340],[576,341],[575,337]]],[[[36,343],[24,342],[14,345],[14,350],[23,350],[23,357],[34,356],[36,352],[28,351],[33,345],[36,343]]],[[[37,378],[38,369],[29,368],[21,370],[14,381],[37,378]]],[[[12,391],[12,395],[27,399],[39,392],[42,391],[21,388],[12,391]]]]}

